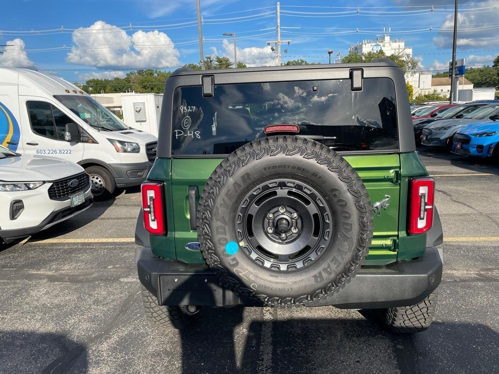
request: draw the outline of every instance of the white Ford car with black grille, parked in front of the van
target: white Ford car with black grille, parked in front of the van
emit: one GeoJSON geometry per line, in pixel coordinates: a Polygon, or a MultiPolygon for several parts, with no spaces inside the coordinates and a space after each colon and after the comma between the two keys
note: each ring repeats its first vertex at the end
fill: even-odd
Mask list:
{"type": "Polygon", "coordinates": [[[92,201],[90,177],[81,166],[0,146],[0,239],[5,243],[79,214],[92,201]]]}

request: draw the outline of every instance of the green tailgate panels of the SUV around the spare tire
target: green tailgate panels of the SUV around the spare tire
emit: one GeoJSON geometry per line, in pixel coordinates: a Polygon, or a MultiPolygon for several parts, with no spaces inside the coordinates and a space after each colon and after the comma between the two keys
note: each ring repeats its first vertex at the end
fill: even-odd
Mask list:
{"type": "MultiPolygon", "coordinates": [[[[400,159],[398,154],[345,156],[362,178],[375,203],[388,198],[380,216],[373,213],[374,235],[365,264],[383,265],[397,259],[397,234],[400,199],[400,159]],[[389,196],[389,197],[386,197],[389,196]]],[[[190,229],[189,187],[197,186],[199,194],[222,159],[172,159],[172,205],[177,259],[189,263],[204,262],[197,249],[186,244],[196,242],[198,235],[190,229]]],[[[170,219],[170,218],[169,218],[170,219]]]]}

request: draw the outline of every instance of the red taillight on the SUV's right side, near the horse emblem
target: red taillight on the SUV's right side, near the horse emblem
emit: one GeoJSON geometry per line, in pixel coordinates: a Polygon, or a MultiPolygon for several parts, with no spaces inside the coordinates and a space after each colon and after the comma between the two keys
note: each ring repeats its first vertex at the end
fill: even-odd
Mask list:
{"type": "Polygon", "coordinates": [[[433,178],[411,180],[410,193],[409,234],[422,234],[433,224],[435,180],[433,178]]]}

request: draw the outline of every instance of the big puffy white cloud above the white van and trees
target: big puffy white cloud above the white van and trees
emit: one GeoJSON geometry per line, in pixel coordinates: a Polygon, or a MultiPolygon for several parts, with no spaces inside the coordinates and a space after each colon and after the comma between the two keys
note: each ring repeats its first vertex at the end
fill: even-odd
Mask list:
{"type": "Polygon", "coordinates": [[[97,21],[73,32],[74,47],[66,61],[79,65],[116,68],[179,66],[179,51],[164,32],[125,30],[97,21]],[[116,49],[120,48],[120,49],[116,49]]]}

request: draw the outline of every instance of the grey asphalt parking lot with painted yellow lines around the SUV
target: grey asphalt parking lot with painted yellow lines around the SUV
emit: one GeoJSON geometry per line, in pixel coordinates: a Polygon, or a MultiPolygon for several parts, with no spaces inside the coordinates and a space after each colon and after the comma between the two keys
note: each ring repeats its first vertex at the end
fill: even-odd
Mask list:
{"type": "Polygon", "coordinates": [[[334,307],[202,311],[181,335],[144,318],[138,188],[0,251],[0,373],[498,373],[499,165],[421,151],[437,182],[436,320],[394,335],[334,307]]]}

